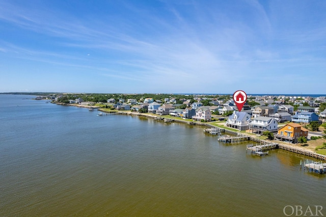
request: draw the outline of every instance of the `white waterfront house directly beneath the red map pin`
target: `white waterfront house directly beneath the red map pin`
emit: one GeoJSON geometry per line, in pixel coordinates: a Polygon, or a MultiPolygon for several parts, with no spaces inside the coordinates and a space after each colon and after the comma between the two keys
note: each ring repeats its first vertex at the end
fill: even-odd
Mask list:
{"type": "Polygon", "coordinates": [[[225,126],[232,127],[238,130],[249,129],[251,116],[247,112],[233,112],[233,114],[226,121],[225,126]]]}

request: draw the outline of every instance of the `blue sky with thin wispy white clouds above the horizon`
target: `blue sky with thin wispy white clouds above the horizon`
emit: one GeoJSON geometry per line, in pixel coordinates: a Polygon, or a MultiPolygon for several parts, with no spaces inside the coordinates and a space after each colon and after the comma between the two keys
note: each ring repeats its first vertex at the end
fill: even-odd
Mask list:
{"type": "Polygon", "coordinates": [[[325,94],[326,1],[0,0],[0,92],[325,94]]]}

